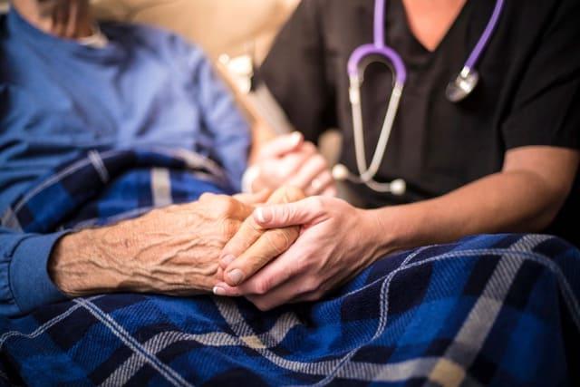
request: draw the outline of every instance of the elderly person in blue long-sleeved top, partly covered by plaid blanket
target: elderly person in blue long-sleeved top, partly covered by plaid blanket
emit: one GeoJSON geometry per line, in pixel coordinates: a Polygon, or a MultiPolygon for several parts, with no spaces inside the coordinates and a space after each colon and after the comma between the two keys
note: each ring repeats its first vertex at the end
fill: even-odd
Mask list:
{"type": "MultiPolygon", "coordinates": [[[[250,146],[203,53],[175,34],[97,24],[88,3],[14,0],[0,25],[0,314],[64,295],[208,291],[251,212],[228,197],[189,203],[237,192],[250,146]]],[[[304,187],[329,176],[312,144],[290,139],[263,160],[314,160],[304,187]]]]}

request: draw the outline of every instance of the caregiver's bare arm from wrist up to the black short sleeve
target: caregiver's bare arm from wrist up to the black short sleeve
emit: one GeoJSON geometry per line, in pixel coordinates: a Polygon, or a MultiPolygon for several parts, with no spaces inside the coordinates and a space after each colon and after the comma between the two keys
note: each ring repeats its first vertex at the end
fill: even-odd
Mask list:
{"type": "Polygon", "coordinates": [[[572,189],[578,151],[527,147],[507,152],[504,171],[440,198],[375,210],[398,249],[474,234],[538,232],[552,223],[572,189]]]}

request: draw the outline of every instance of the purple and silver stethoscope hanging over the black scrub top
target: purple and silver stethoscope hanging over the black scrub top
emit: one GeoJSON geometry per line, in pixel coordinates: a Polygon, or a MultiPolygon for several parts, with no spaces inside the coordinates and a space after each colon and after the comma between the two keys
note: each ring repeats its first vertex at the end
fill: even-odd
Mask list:
{"type": "MultiPolygon", "coordinates": [[[[407,69],[402,62],[401,55],[396,53],[384,42],[385,2],[386,0],[375,0],[374,43],[364,44],[354,50],[348,61],[348,75],[351,83],[349,96],[353,109],[354,154],[356,156],[359,175],[354,176],[346,166],[337,164],[333,168],[333,178],[339,181],[349,180],[353,183],[365,184],[374,191],[400,196],[404,195],[407,191],[407,183],[405,180],[395,179],[390,183],[380,183],[374,180],[381,167],[382,159],[384,158],[384,153],[387,149],[389,138],[391,137],[392,126],[397,116],[397,111],[399,110],[402,91],[407,81],[407,69]],[[381,135],[374,150],[371,165],[367,166],[362,128],[361,86],[366,68],[375,62],[383,63],[389,67],[393,76],[393,87],[387,113],[382,123],[381,135]]],[[[498,26],[498,20],[503,11],[503,6],[504,0],[496,1],[493,14],[489,19],[484,33],[479,38],[478,44],[469,55],[468,61],[463,66],[457,78],[449,82],[445,92],[449,102],[457,103],[465,100],[478,85],[479,73],[475,67],[498,26]]]]}

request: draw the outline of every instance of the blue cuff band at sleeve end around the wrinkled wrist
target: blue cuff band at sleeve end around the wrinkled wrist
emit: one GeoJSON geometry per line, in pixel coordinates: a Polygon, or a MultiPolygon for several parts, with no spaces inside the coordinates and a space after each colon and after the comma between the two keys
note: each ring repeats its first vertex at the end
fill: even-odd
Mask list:
{"type": "Polygon", "coordinates": [[[14,302],[22,314],[67,299],[48,275],[48,259],[56,242],[65,234],[27,237],[14,250],[10,283],[14,302]]]}

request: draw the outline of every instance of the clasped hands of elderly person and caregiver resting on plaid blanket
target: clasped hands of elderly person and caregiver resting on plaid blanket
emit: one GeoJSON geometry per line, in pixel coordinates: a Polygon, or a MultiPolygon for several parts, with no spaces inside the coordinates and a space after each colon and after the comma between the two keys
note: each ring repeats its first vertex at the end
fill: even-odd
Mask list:
{"type": "MultiPolygon", "coordinates": [[[[293,157],[310,160],[309,150],[297,146],[293,157]]],[[[303,183],[320,170],[306,175],[303,183]]],[[[59,240],[48,271],[70,296],[213,291],[245,296],[262,310],[316,300],[370,265],[383,252],[378,241],[385,234],[372,211],[330,196],[332,184],[321,189],[329,196],[304,198],[304,186],[278,189],[269,198],[269,192],[206,194],[75,232],[59,240]]]]}

